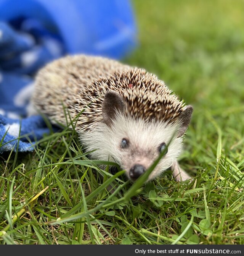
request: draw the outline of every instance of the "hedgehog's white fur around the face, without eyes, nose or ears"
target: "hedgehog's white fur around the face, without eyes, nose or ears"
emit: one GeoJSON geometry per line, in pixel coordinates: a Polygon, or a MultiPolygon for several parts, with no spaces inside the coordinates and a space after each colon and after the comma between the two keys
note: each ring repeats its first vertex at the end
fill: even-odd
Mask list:
{"type": "Polygon", "coordinates": [[[92,131],[82,133],[80,140],[87,151],[91,151],[93,158],[117,162],[129,177],[129,170],[135,164],[142,164],[148,169],[159,156],[160,144],[164,142],[168,145],[172,139],[167,154],[148,178],[152,180],[168,169],[180,154],[183,138],[175,136],[177,129],[177,123],[145,122],[141,118],[135,120],[133,117],[117,114],[111,127],[101,123],[92,131]],[[123,138],[129,141],[126,149],[120,147],[123,138]]]}

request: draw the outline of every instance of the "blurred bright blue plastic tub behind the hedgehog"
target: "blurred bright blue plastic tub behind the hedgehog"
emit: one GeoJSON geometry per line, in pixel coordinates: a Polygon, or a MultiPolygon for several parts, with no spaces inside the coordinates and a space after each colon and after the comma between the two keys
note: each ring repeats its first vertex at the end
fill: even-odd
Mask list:
{"type": "Polygon", "coordinates": [[[136,44],[129,0],[0,0],[0,20],[37,19],[67,53],[121,58],[136,44]]]}

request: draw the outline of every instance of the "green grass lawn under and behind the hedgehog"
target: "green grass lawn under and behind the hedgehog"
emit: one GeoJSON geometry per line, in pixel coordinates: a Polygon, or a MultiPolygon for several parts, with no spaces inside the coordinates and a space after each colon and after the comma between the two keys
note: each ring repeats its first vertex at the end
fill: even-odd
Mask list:
{"type": "Polygon", "coordinates": [[[132,185],[89,160],[73,131],[52,133],[33,153],[0,156],[0,243],[244,243],[243,2],[133,4],[140,45],[124,62],[193,105],[180,163],[194,181],[167,171],[132,185]]]}

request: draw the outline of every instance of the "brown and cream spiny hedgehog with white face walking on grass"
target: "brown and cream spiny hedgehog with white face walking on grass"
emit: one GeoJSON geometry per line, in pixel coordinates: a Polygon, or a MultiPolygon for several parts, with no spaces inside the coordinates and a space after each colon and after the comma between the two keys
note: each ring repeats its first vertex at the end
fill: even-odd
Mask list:
{"type": "Polygon", "coordinates": [[[64,108],[71,120],[78,116],[75,130],[85,150],[93,159],[119,164],[132,181],[162,151],[148,180],[169,168],[176,181],[191,178],[177,157],[193,107],[144,69],[103,57],[66,56],[39,71],[32,105],[53,124],[66,125],[64,108]]]}

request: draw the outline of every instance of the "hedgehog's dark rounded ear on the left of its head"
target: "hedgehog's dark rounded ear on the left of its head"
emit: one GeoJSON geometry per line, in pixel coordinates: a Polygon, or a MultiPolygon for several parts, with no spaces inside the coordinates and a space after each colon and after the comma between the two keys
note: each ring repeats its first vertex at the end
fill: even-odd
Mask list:
{"type": "Polygon", "coordinates": [[[115,118],[116,112],[123,112],[125,109],[125,102],[122,97],[114,91],[107,92],[103,100],[103,120],[110,126],[112,120],[115,118]]]}

